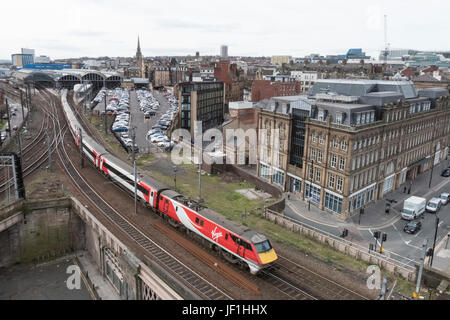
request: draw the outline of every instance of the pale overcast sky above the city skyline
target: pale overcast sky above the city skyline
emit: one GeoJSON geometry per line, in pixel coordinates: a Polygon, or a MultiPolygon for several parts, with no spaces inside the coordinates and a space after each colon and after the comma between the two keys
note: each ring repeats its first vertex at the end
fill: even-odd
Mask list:
{"type": "Polygon", "coordinates": [[[448,0],[2,1],[0,59],[219,54],[304,56],[384,47],[450,51],[448,0]]]}

